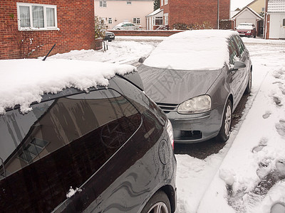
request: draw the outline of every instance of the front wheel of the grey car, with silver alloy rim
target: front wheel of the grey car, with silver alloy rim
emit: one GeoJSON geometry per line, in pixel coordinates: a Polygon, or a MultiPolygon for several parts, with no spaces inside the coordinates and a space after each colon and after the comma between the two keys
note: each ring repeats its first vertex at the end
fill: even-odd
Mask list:
{"type": "Polygon", "coordinates": [[[232,128],[232,102],[227,99],[226,107],[224,107],[224,114],[222,117],[222,126],[217,135],[217,141],[222,143],[229,139],[229,133],[232,128]]]}

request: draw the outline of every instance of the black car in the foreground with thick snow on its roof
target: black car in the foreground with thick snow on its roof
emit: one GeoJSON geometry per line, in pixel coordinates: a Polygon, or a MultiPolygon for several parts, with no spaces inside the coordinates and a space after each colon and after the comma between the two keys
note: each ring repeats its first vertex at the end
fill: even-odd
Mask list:
{"type": "Polygon", "coordinates": [[[1,212],[175,212],[172,126],[135,67],[0,67],[1,212]]]}

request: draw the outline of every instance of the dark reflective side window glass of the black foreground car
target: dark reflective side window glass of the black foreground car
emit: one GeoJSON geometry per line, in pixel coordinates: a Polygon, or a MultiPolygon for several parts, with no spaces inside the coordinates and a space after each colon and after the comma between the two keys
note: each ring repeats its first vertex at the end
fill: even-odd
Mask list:
{"type": "Polygon", "coordinates": [[[86,182],[141,125],[133,104],[112,89],[61,97],[32,108],[28,114],[14,109],[0,116],[4,212],[21,204],[23,212],[51,212],[66,200],[71,186],[86,182]]]}

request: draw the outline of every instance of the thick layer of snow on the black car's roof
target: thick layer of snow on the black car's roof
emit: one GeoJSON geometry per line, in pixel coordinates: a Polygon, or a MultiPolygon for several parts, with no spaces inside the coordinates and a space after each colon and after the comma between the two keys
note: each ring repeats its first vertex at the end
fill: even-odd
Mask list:
{"type": "Polygon", "coordinates": [[[116,65],[79,60],[0,60],[0,114],[20,105],[22,112],[31,110],[32,102],[40,102],[44,93],[60,92],[75,87],[88,90],[108,86],[115,74],[133,72],[132,65],[116,65]]]}

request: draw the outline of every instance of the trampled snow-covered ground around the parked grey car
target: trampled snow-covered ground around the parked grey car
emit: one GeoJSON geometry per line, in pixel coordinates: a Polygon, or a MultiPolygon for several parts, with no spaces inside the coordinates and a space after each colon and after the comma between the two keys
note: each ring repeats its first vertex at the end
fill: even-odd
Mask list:
{"type": "MultiPolygon", "coordinates": [[[[160,40],[118,37],[105,52],[74,50],[50,58],[132,64],[160,40]]],[[[219,153],[204,160],[176,155],[177,213],[265,213],[285,203],[285,40],[243,40],[254,67],[252,94],[219,153]]]]}

